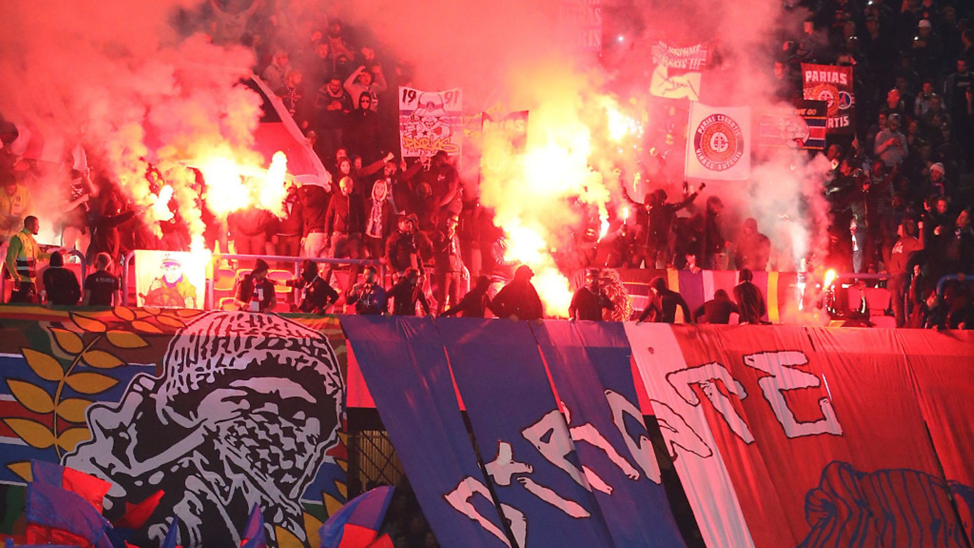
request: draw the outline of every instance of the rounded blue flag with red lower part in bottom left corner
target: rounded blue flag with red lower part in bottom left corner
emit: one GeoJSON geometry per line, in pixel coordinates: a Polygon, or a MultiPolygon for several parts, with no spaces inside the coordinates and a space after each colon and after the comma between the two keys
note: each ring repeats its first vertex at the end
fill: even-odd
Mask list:
{"type": "Polygon", "coordinates": [[[111,525],[84,497],[44,483],[27,485],[27,542],[110,548],[111,525]]]}

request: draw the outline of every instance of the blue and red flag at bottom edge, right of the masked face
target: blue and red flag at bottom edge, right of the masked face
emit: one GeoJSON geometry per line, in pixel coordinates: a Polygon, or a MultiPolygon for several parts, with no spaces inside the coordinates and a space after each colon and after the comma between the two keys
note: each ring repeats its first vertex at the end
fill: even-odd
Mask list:
{"type": "Polygon", "coordinates": [[[350,500],[319,529],[321,548],[371,546],[393,500],[393,490],[388,486],[370,489],[350,500]]]}

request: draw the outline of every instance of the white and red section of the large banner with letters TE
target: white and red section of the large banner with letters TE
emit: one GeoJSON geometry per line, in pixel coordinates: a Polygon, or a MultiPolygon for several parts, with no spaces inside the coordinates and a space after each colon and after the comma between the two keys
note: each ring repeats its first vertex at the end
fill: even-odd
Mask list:
{"type": "Polygon", "coordinates": [[[672,357],[651,361],[665,338],[629,330],[654,410],[674,394],[695,408],[723,461],[718,478],[677,460],[708,545],[741,517],[759,548],[963,545],[896,332],[856,331],[673,328],[685,366],[663,373],[672,357]],[[727,480],[719,504],[693,492],[727,480]]]}

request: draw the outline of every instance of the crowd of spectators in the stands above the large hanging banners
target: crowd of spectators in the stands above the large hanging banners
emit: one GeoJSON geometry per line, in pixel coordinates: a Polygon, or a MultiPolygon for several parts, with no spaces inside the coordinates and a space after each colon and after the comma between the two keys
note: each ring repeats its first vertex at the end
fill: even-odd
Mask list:
{"type": "MultiPolygon", "coordinates": [[[[974,272],[974,5],[950,0],[808,0],[805,32],[768,39],[775,52],[768,72],[782,99],[801,98],[801,63],[855,67],[856,132],[830,136],[824,154],[833,174],[822,188],[831,207],[830,247],[819,259],[840,272],[884,273],[898,327],[972,328],[971,286],[960,282],[937,294],[940,278],[974,272]]],[[[348,287],[333,288],[331,270],[307,261],[290,282],[302,292],[297,309],[324,312],[340,299],[357,313],[464,314],[540,318],[531,271],[505,259],[506,237],[465,185],[445,152],[429,163],[397,158],[395,90],[411,84],[410,66],[385,56],[367,29],[353,29],[321,13],[289,14],[273,0],[210,0],[202,11],[179,18],[187,34],[204,31],[217,44],[241,44],[257,59],[254,71],[275,93],[332,175],[330,188],[294,186],[278,218],[250,208],[225,224],[205,218],[207,240],[238,254],[364,258],[374,267],[352,267],[348,287]],[[361,281],[358,276],[361,274],[361,281]],[[492,286],[507,284],[495,294],[492,286]],[[424,288],[431,288],[427,294],[424,288]],[[490,295],[493,295],[490,296],[490,295]],[[388,305],[392,297],[393,306],[388,305]],[[432,297],[432,298],[430,298],[432,297]]],[[[795,6],[798,7],[798,6],[795,6]]],[[[652,121],[652,118],[651,118],[652,121]]],[[[16,135],[0,131],[9,143],[16,135]]],[[[650,150],[655,143],[645,143],[650,150]]],[[[12,300],[34,301],[37,261],[48,255],[32,235],[40,221],[33,195],[37,166],[0,149],[0,240],[9,244],[4,275],[12,300]],[[26,222],[25,222],[26,220],[26,222]],[[10,281],[10,280],[9,280],[10,281]]],[[[146,184],[158,188],[157,171],[146,184]]],[[[56,304],[111,304],[118,300],[118,264],[135,249],[186,250],[189,232],[179,215],[164,223],[162,237],[144,225],[110,174],[72,171],[59,197],[56,222],[62,250],[78,250],[97,270],[83,285],[48,290],[56,304]],[[110,278],[114,278],[112,282],[110,278]],[[79,287],[76,287],[79,286],[79,287]],[[54,294],[58,294],[55,299],[54,294]],[[66,296],[64,296],[66,295],[66,296]],[[114,296],[113,296],[114,295],[114,296]]],[[[742,285],[750,271],[780,267],[755,219],[725,226],[717,195],[697,200],[704,185],[686,183],[671,198],[667,180],[650,180],[653,191],[614,197],[635,211],[599,237],[598,218],[576,231],[570,252],[558,256],[566,272],[581,272],[571,313],[581,319],[637,319],[631,307],[606,294],[605,269],[737,269],[742,285]],[[641,199],[640,199],[641,198],[641,199]],[[589,271],[588,269],[594,269],[589,271]],[[601,270],[600,270],[601,269],[601,270]],[[600,288],[600,280],[603,287],[600,288]]],[[[204,209],[206,214],[206,209],[204,209]]],[[[267,262],[242,277],[238,305],[275,306],[267,262]]],[[[61,282],[52,276],[52,285],[61,282]]],[[[618,273],[615,275],[618,278],[618,273]]],[[[872,282],[871,282],[872,283],[872,282]]],[[[680,301],[663,278],[651,284],[642,319],[673,321],[680,301]]],[[[679,296],[679,295],[677,295],[679,296]]],[[[706,310],[684,317],[727,322],[760,321],[761,294],[749,288],[723,293],[706,310]],[[737,293],[736,291],[734,292],[737,293]]],[[[686,308],[686,303],[682,306],[686,308]]]]}

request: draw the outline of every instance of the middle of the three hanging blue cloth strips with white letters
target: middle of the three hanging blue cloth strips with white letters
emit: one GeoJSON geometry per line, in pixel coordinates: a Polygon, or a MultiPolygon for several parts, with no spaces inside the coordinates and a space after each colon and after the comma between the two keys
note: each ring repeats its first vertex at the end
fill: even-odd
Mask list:
{"type": "Polygon", "coordinates": [[[439,322],[477,447],[523,548],[612,546],[525,322],[439,322]]]}

